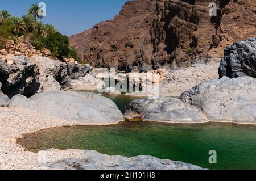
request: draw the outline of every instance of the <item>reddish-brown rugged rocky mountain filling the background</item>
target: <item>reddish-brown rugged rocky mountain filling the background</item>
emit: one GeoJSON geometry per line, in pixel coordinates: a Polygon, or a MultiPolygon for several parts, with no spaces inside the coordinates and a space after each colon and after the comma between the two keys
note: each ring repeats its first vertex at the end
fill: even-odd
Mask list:
{"type": "Polygon", "coordinates": [[[254,0],[134,0],[113,20],[70,37],[82,60],[125,71],[172,68],[220,58],[256,35],[254,0]],[[209,16],[216,2],[217,16],[209,16]]]}

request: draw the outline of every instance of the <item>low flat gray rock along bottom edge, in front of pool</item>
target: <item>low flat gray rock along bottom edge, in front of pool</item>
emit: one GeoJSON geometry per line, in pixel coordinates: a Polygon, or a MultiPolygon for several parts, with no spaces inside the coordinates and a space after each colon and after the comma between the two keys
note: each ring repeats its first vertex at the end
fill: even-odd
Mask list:
{"type": "Polygon", "coordinates": [[[121,157],[100,154],[90,150],[42,151],[47,164],[53,169],[65,170],[203,170],[203,168],[184,162],[158,159],[151,156],[121,157]],[[55,159],[55,155],[58,159],[55,159]]]}

